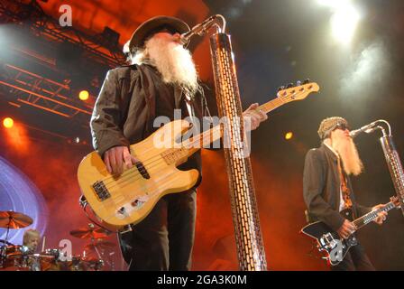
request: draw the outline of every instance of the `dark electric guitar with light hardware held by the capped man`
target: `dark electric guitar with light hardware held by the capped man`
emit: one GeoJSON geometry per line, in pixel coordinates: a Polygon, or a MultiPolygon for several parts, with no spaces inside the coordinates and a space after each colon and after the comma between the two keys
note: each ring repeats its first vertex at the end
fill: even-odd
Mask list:
{"type": "MultiPolygon", "coordinates": [[[[372,210],[358,219],[353,219],[353,210],[351,209],[342,210],[340,213],[345,219],[351,220],[356,230],[358,230],[369,224],[373,219],[376,219],[378,213],[381,211],[389,211],[393,208],[399,208],[399,199],[397,197],[391,197],[390,202],[383,207],[378,210],[372,210]]],[[[341,263],[349,249],[358,244],[358,240],[354,235],[346,239],[341,238],[337,232],[329,228],[322,221],[308,224],[308,226],[302,228],[300,232],[310,238],[316,239],[318,251],[325,251],[326,256],[323,258],[325,258],[327,263],[331,266],[336,266],[341,263]]]]}

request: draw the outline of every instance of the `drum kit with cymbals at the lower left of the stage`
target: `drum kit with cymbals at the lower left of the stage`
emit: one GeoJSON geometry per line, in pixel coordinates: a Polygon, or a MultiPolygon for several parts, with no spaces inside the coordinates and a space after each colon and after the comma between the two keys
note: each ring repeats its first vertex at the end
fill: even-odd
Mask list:
{"type": "MultiPolygon", "coordinates": [[[[66,256],[60,249],[46,249],[34,254],[29,247],[7,241],[10,229],[31,224],[32,219],[22,213],[0,211],[0,228],[6,228],[5,239],[0,239],[0,271],[100,271],[105,266],[105,252],[115,247],[114,243],[105,240],[105,231],[93,224],[70,231],[75,238],[89,240],[83,255],[79,256],[66,256]],[[96,257],[87,256],[86,252],[95,253],[96,257]]],[[[113,261],[106,260],[106,263],[114,268],[113,261]]]]}

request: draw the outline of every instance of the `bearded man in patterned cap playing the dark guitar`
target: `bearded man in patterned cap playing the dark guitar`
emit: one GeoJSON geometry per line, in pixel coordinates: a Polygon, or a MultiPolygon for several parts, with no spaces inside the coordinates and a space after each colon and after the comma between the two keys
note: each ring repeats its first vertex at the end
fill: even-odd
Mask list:
{"type": "MultiPolygon", "coordinates": [[[[353,222],[344,219],[341,210],[352,209],[356,219],[383,205],[368,208],[355,201],[349,176],[363,172],[363,163],[349,135],[348,122],[343,117],[328,117],[321,122],[317,133],[321,146],[308,151],[303,172],[303,197],[308,206],[308,220],[320,220],[341,238],[349,238],[356,228],[353,222]]],[[[374,221],[381,225],[386,216],[387,212],[383,211],[374,221]]],[[[332,269],[375,270],[360,244],[351,247],[344,260],[332,269]]]]}

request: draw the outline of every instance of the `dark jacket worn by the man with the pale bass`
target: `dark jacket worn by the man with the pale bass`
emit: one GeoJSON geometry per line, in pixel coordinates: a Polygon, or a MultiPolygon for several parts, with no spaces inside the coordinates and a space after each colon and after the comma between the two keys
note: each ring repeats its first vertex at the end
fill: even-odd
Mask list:
{"type": "MultiPolygon", "coordinates": [[[[103,156],[114,146],[136,144],[157,130],[153,121],[157,117],[156,98],[161,94],[174,93],[175,107],[182,108],[182,116],[188,116],[181,90],[168,89],[168,86],[150,65],[128,65],[109,70],[90,122],[93,146],[98,154],[103,156]]],[[[203,115],[202,104],[201,96],[197,95],[193,102],[196,117],[203,115]]],[[[200,151],[179,168],[195,168],[201,172],[200,151]]]]}

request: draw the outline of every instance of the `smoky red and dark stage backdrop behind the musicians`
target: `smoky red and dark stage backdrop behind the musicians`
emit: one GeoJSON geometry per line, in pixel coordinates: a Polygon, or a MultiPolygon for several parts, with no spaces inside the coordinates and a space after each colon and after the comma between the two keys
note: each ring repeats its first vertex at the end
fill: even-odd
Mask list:
{"type": "MultiPolygon", "coordinates": [[[[19,22],[10,21],[5,11],[11,2],[0,0],[0,117],[13,117],[14,127],[0,129],[0,156],[31,179],[43,196],[48,208],[46,247],[56,248],[61,239],[70,239],[73,253],[78,255],[87,241],[69,236],[69,231],[86,227],[89,222],[78,206],[77,183],[78,163],[92,151],[89,115],[62,117],[49,109],[28,105],[18,100],[27,97],[26,92],[23,96],[23,91],[5,83],[13,80],[19,85],[17,77],[10,74],[12,65],[67,83],[69,89],[63,93],[75,98],[71,103],[91,110],[106,70],[112,66],[92,61],[58,39],[36,35],[30,29],[32,19],[38,17],[33,6],[23,6],[29,9],[19,14],[23,17],[19,22]],[[82,88],[87,88],[91,95],[85,103],[77,98],[82,88]]],[[[349,44],[333,41],[329,23],[332,9],[315,0],[74,0],[39,1],[38,5],[42,13],[53,19],[60,17],[60,5],[71,5],[74,29],[97,35],[107,25],[120,34],[117,48],[122,48],[140,23],[154,15],[174,15],[194,25],[210,14],[223,14],[228,22],[227,32],[232,35],[245,108],[253,102],[275,98],[281,85],[298,79],[316,81],[321,88],[319,94],[273,111],[269,120],[253,132],[252,163],[269,269],[326,270],[322,260],[309,256],[311,241],[298,233],[306,224],[302,198],[304,157],[309,148],[319,144],[319,122],[325,117],[341,116],[356,128],[386,119],[399,154],[404,154],[404,4],[393,0],[352,3],[362,17],[349,44]],[[294,136],[286,141],[284,135],[289,131],[294,136]]],[[[211,83],[207,37],[193,40],[191,49],[201,79],[211,83]]],[[[39,91],[35,90],[37,87],[31,89],[39,91]]],[[[356,142],[365,171],[353,179],[353,189],[363,205],[385,203],[395,194],[380,136],[361,135],[356,142]]],[[[221,152],[204,151],[203,159],[204,182],[197,192],[193,269],[237,270],[224,157],[221,152]]],[[[7,188],[2,190],[4,197],[7,188]]],[[[0,203],[0,210],[13,208],[4,208],[0,203]]],[[[401,211],[393,210],[383,226],[371,224],[358,233],[378,269],[404,269],[403,228],[401,211]]],[[[108,239],[116,242],[115,236],[108,239]]],[[[118,247],[105,252],[108,256],[109,253],[113,253],[110,258],[115,261],[115,269],[124,269],[118,247]]]]}

